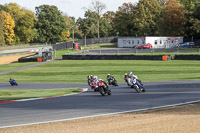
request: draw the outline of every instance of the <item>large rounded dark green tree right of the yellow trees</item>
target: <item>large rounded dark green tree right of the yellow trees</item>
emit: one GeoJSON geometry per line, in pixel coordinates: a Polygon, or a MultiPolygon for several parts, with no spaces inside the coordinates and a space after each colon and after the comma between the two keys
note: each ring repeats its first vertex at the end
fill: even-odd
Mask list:
{"type": "Polygon", "coordinates": [[[61,12],[56,6],[41,5],[36,7],[36,28],[40,38],[39,42],[59,42],[62,40],[62,32],[65,31],[66,23],[61,12]]]}

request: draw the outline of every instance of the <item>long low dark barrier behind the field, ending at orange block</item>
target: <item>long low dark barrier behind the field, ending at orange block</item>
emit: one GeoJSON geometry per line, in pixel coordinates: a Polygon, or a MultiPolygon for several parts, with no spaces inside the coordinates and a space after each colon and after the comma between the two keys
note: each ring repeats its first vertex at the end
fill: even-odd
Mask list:
{"type": "MultiPolygon", "coordinates": [[[[167,56],[167,60],[170,58],[167,56]]],[[[62,59],[63,60],[163,60],[163,55],[63,55],[62,59]]]]}

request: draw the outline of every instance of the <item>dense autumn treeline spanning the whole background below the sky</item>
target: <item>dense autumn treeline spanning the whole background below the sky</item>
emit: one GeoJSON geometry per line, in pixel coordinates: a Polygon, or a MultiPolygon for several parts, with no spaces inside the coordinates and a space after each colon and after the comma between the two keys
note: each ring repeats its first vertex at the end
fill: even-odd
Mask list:
{"type": "Polygon", "coordinates": [[[199,0],[139,0],[118,11],[93,1],[84,18],[69,17],[56,6],[41,5],[36,13],[16,3],[0,5],[0,45],[55,43],[107,36],[184,36],[200,38],[199,0]]]}

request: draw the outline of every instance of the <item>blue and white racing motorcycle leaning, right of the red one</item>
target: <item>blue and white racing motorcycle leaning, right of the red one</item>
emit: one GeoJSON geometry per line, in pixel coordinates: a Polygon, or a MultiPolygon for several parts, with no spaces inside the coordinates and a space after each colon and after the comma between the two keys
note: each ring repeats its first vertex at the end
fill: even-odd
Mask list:
{"type": "Polygon", "coordinates": [[[144,85],[141,81],[137,80],[136,78],[132,78],[130,83],[131,88],[134,88],[138,93],[145,92],[144,85]]]}

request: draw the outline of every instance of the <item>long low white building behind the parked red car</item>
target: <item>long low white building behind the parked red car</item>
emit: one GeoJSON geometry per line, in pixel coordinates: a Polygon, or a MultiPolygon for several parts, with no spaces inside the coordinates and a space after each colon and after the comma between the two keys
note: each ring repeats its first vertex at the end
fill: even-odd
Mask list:
{"type": "Polygon", "coordinates": [[[153,48],[173,48],[177,44],[183,43],[183,37],[120,37],[118,38],[119,48],[133,48],[143,44],[150,43],[153,48]]]}

